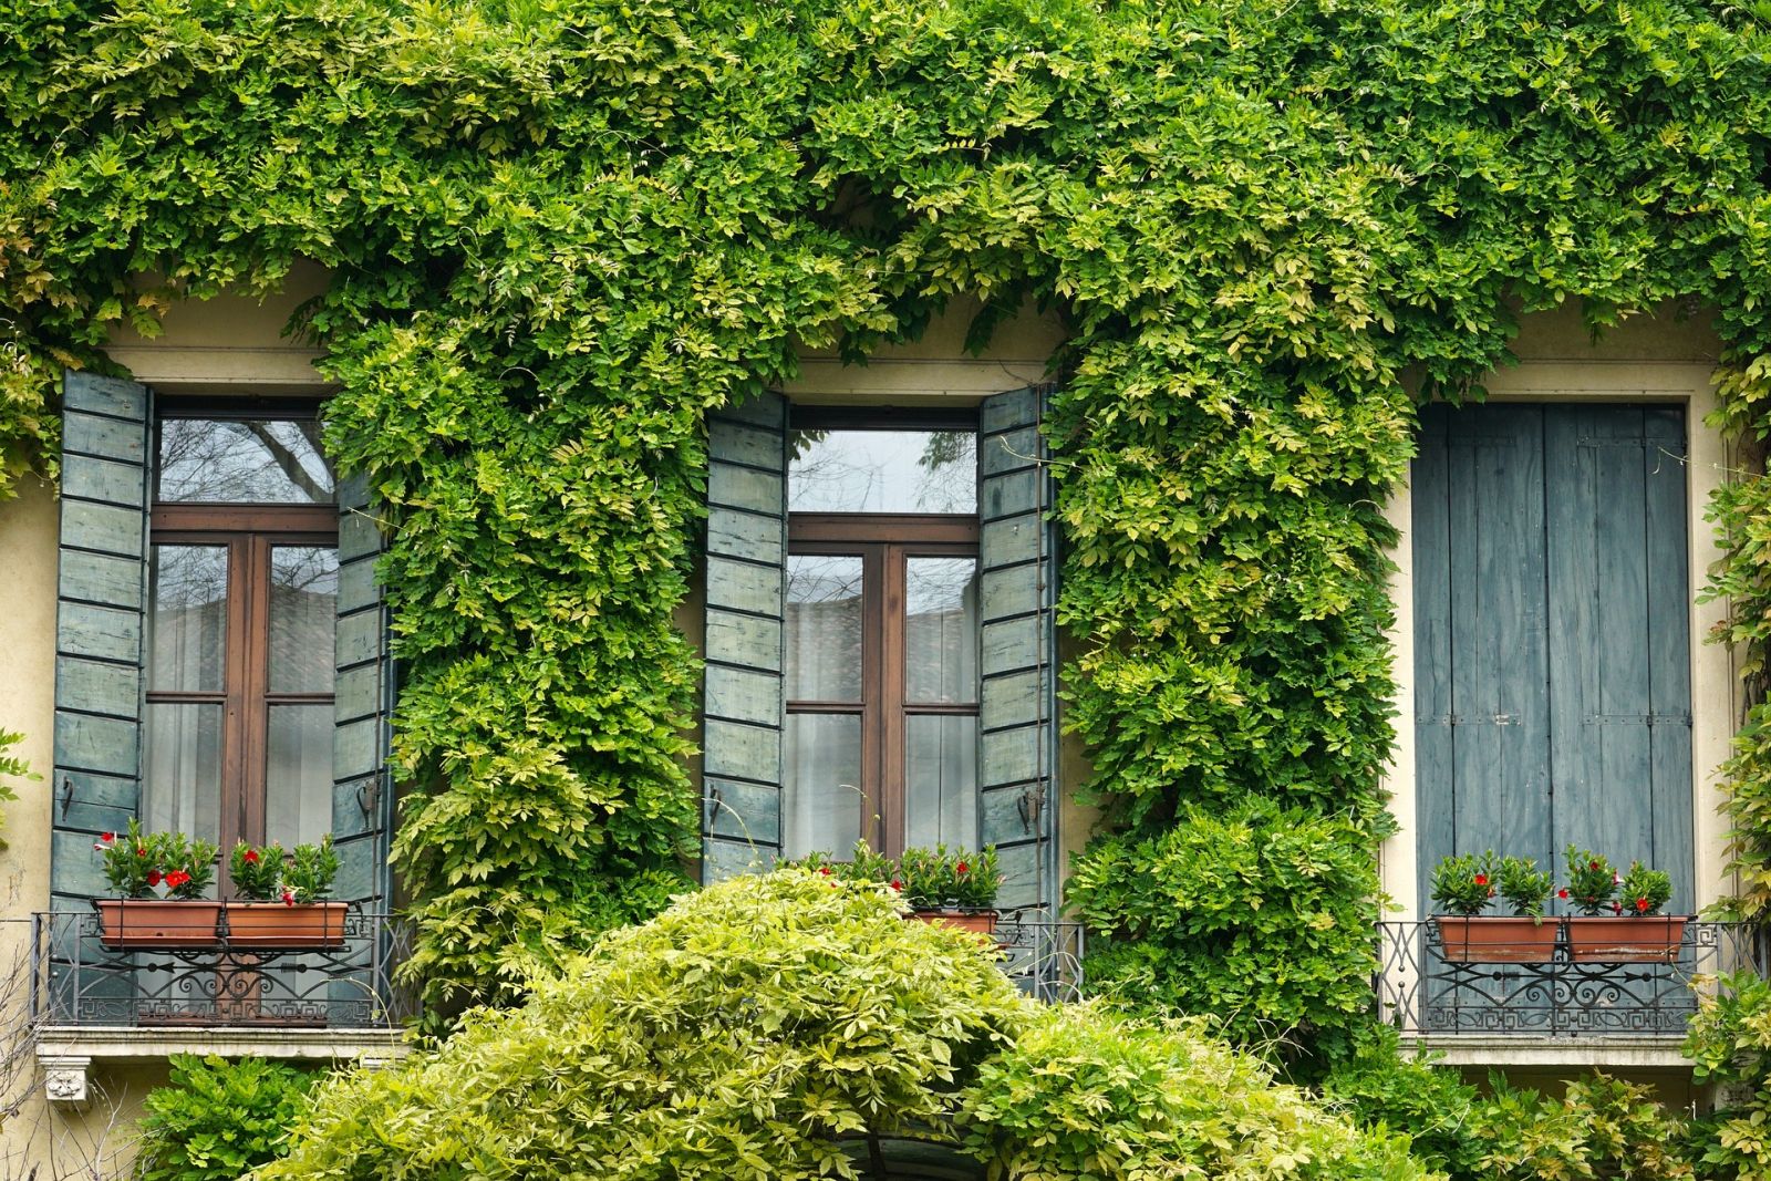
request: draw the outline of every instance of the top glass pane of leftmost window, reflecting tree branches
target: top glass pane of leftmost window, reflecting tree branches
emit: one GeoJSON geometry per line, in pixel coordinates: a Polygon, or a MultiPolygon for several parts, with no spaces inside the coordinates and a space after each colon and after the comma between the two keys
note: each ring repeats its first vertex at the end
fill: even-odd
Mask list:
{"type": "Polygon", "coordinates": [[[154,499],[329,505],[317,421],[163,418],[154,499]]]}

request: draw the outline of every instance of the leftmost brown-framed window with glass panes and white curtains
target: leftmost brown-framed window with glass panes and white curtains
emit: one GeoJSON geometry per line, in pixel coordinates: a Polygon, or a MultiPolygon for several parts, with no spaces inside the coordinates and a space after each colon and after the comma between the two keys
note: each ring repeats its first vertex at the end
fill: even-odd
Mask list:
{"type": "Polygon", "coordinates": [[[313,407],[161,409],[142,816],[218,841],[331,830],[338,517],[313,407]]]}

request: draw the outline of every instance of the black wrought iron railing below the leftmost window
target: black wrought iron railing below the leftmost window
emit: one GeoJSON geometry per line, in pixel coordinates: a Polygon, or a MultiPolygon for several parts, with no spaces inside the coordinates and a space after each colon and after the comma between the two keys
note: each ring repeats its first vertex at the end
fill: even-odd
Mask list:
{"type": "MultiPolygon", "coordinates": [[[[223,928],[225,931],[225,928],[223,928]]],[[[115,940],[115,935],[112,935],[115,940]]],[[[321,947],[106,946],[99,915],[32,919],[32,1016],[39,1025],[391,1029],[414,1013],[393,981],[409,928],[356,910],[321,947]]]]}

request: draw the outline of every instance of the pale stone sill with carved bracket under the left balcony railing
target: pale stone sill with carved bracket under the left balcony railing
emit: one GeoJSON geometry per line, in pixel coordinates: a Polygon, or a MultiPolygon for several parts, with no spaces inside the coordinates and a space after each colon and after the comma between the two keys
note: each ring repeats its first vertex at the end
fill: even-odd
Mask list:
{"type": "Polygon", "coordinates": [[[174,1054],[214,1054],[386,1066],[409,1052],[411,1046],[393,1029],[46,1025],[37,1030],[44,1092],[51,1103],[69,1107],[85,1105],[92,1062],[163,1062],[174,1054]]]}

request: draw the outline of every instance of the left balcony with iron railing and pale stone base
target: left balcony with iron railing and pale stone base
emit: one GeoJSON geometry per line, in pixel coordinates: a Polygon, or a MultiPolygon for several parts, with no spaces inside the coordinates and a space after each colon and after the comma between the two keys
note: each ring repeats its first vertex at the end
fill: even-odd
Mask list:
{"type": "Polygon", "coordinates": [[[32,915],[30,1020],[51,1100],[80,1105],[94,1061],[168,1054],[386,1061],[416,999],[393,981],[409,928],[354,907],[324,947],[108,947],[99,915],[32,915]]]}

